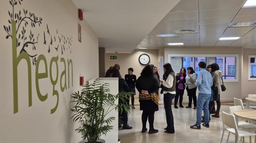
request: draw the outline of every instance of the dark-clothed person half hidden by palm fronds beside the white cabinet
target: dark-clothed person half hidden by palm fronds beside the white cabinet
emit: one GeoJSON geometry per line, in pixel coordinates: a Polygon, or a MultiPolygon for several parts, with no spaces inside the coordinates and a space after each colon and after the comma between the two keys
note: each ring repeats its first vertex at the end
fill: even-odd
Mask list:
{"type": "MultiPolygon", "coordinates": [[[[117,77],[118,78],[118,92],[119,93],[129,92],[129,86],[126,83],[126,81],[123,78],[121,78],[120,72],[119,72],[118,69],[115,69],[113,71],[112,77],[117,77]]],[[[120,101],[118,101],[118,102],[120,102],[120,101]]],[[[129,104],[129,98],[128,97],[125,99],[125,104],[129,104]]],[[[120,118],[120,121],[123,124],[122,129],[132,129],[132,127],[128,125],[128,114],[127,114],[127,112],[125,112],[123,110],[123,112],[121,113],[119,111],[118,117],[120,118]]],[[[122,124],[119,124],[118,127],[121,127],[122,124]]]]}

